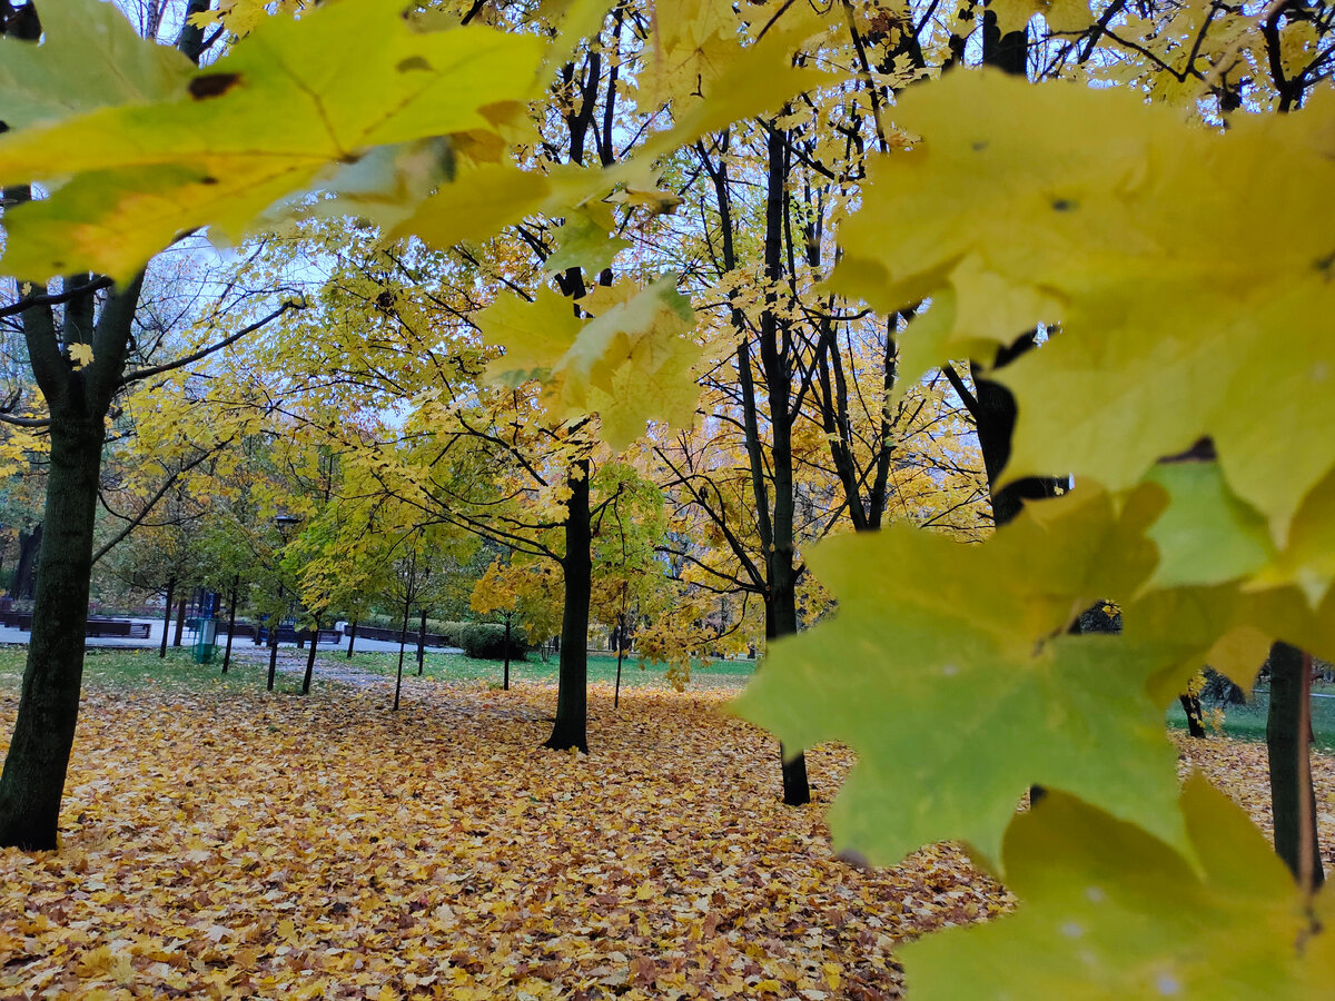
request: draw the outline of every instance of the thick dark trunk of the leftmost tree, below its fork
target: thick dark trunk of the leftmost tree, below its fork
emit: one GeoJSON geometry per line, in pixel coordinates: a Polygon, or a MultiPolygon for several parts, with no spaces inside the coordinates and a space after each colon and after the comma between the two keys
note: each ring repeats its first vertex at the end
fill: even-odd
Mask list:
{"type": "Polygon", "coordinates": [[[52,418],[32,639],[0,774],[0,846],[56,848],[79,717],[103,418],[52,418]]]}

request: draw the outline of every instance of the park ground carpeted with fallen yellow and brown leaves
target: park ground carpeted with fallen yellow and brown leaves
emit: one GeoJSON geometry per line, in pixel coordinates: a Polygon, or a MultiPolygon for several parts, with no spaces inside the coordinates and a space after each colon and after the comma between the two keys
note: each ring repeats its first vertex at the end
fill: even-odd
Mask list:
{"type": "MultiPolygon", "coordinates": [[[[595,687],[583,757],[538,750],[546,685],[409,678],[392,713],[140,663],[156,683],[91,671],[60,853],[0,853],[0,997],[882,998],[896,941],[1008,906],[949,848],[832,857],[846,753],[786,809],[717,689],[595,687]]],[[[1263,747],[1191,758],[1264,819],[1263,747]]]]}

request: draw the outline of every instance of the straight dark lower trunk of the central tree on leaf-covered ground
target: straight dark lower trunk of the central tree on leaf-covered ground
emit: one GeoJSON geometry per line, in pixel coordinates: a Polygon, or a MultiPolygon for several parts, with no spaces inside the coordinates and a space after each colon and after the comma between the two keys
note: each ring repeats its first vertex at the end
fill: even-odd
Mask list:
{"type": "Polygon", "coordinates": [[[566,602],[561,618],[561,667],[557,682],[557,719],[545,747],[589,753],[589,598],[593,594],[593,539],[589,523],[589,459],[578,459],[567,479],[566,602]]]}

